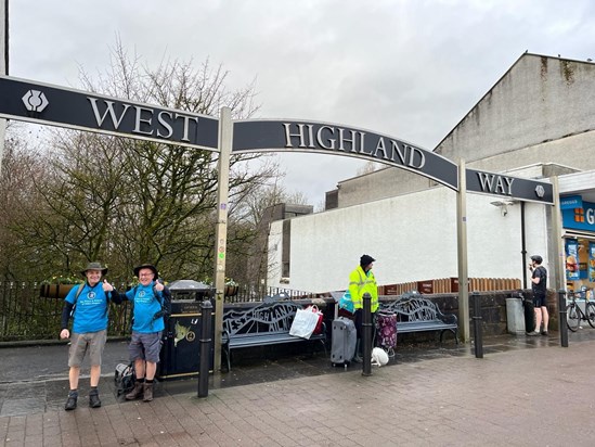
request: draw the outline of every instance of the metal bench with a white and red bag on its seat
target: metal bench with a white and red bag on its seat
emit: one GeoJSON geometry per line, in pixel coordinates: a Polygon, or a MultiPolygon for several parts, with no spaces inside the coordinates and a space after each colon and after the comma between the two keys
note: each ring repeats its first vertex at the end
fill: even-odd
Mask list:
{"type": "Polygon", "coordinates": [[[250,309],[230,309],[223,314],[222,347],[231,371],[231,352],[243,347],[276,345],[297,342],[321,342],[326,354],[326,327],[310,339],[289,335],[297,303],[266,302],[250,309]]]}

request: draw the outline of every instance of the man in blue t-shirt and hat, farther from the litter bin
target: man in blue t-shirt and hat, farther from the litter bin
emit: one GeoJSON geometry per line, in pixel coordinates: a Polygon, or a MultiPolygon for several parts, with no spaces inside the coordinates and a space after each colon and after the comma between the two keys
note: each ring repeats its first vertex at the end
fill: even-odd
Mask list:
{"type": "Polygon", "coordinates": [[[80,365],[87,352],[89,352],[91,363],[89,406],[101,407],[98,385],[101,376],[101,358],[107,340],[107,308],[111,299],[107,289],[112,289],[105,280],[101,282],[106,273],[107,268],[102,267],[101,263],[89,263],[81,271],[86,278],[85,283],[73,288],[64,301],[60,337],[70,339],[68,350],[70,391],[64,406],[67,411],[77,407],[80,365]],[[72,333],[68,331],[70,316],[74,318],[72,333]]]}

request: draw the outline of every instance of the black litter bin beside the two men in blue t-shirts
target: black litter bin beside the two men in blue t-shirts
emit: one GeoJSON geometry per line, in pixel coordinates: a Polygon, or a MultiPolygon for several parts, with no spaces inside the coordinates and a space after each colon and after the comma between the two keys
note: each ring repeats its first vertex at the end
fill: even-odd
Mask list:
{"type": "Polygon", "coordinates": [[[210,299],[211,346],[209,371],[215,359],[215,290],[202,282],[179,280],[168,284],[171,291],[171,314],[166,318],[157,379],[160,381],[196,376],[201,369],[201,331],[203,299],[210,299]]]}

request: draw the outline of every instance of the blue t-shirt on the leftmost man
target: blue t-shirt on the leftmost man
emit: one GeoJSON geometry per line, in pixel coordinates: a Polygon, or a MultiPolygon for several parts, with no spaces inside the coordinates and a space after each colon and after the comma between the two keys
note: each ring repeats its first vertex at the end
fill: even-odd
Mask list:
{"type": "Polygon", "coordinates": [[[87,332],[98,332],[107,329],[107,305],[108,297],[103,291],[101,282],[90,286],[88,282],[70,289],[65,301],[75,304],[75,297],[78,289],[83,288],[82,292],[76,298],[75,312],[73,315],[73,332],[83,334],[87,332]]]}

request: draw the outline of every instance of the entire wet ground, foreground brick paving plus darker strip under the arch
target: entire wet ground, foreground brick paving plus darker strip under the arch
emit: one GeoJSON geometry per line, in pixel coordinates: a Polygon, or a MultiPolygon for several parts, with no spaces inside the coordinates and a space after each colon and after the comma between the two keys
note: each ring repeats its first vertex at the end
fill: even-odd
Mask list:
{"type": "Polygon", "coordinates": [[[234,358],[197,380],[161,382],[150,404],[115,396],[114,368],[125,342],[105,348],[101,409],[89,409],[88,367],[79,408],[63,410],[67,346],[0,348],[3,445],[593,445],[584,416],[595,330],[502,335],[470,344],[400,344],[372,376],[361,366],[333,368],[323,354],[234,358]],[[274,359],[277,357],[276,359],[274,359]],[[584,387],[585,392],[581,392],[584,387]],[[568,398],[572,396],[572,398],[568,398]],[[575,419],[574,419],[575,418],[575,419]],[[37,427],[36,427],[37,426],[37,427]]]}

